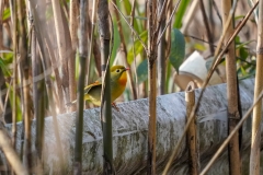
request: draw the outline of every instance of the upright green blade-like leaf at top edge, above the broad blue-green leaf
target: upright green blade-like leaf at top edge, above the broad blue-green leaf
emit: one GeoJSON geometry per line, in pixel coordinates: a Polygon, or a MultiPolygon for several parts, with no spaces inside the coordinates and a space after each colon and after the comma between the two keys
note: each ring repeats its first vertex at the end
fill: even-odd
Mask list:
{"type": "Polygon", "coordinates": [[[190,0],[184,0],[184,1],[180,2],[179,9],[175,14],[175,21],[174,21],[173,27],[181,28],[183,16],[184,16],[184,13],[186,11],[188,3],[190,3],[190,0]]]}

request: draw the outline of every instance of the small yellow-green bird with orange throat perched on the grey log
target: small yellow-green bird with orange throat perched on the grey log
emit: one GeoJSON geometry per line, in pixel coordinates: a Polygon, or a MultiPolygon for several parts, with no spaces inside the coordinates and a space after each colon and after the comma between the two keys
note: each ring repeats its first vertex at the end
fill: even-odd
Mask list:
{"type": "MultiPolygon", "coordinates": [[[[116,107],[114,101],[121,96],[126,88],[127,73],[129,68],[124,66],[113,66],[111,71],[111,103],[116,107]]],[[[101,91],[102,91],[102,78],[99,78],[95,82],[84,88],[84,101],[90,101],[96,106],[101,106],[101,91]]],[[[66,105],[72,105],[77,102],[72,101],[66,105]]]]}

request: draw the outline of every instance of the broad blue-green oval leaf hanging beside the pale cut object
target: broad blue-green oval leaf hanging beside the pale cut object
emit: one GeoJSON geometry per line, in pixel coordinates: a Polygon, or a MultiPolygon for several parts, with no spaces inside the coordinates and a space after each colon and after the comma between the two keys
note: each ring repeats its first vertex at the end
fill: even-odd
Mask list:
{"type": "Polygon", "coordinates": [[[185,56],[185,40],[183,34],[173,28],[172,31],[172,43],[171,43],[171,54],[170,54],[170,62],[173,68],[179,72],[179,67],[183,63],[185,56]]]}

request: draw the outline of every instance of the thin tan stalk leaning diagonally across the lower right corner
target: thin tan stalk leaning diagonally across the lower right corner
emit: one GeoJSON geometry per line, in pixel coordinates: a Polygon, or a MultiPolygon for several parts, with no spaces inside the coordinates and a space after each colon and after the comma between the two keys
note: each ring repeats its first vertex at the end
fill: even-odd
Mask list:
{"type": "Polygon", "coordinates": [[[241,117],[241,119],[239,120],[238,125],[229,133],[227,139],[222,142],[220,148],[217,150],[217,152],[214,154],[214,156],[210,159],[210,161],[207,163],[207,165],[203,168],[203,171],[201,172],[199,175],[205,175],[209,171],[209,168],[213,165],[213,163],[215,163],[216,159],[221,154],[221,152],[228,145],[230,140],[233,138],[233,136],[239,131],[239,129],[241,128],[241,126],[243,125],[245,119],[248,119],[250,117],[250,114],[252,113],[253,108],[255,107],[255,105],[259,104],[259,102],[262,100],[262,97],[263,97],[263,91],[261,91],[260,95],[256,97],[256,100],[254,101],[253,105],[248,109],[248,112],[244,114],[244,116],[241,117]]]}

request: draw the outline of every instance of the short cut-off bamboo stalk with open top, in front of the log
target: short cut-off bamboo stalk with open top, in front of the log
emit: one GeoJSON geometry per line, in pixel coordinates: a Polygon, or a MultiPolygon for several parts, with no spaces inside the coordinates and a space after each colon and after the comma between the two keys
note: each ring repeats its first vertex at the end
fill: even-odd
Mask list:
{"type": "MultiPolygon", "coordinates": [[[[190,119],[191,112],[195,105],[195,91],[194,82],[190,82],[185,90],[185,102],[186,102],[186,119],[190,119]]],[[[199,173],[199,155],[198,155],[198,140],[196,133],[196,118],[190,122],[190,129],[186,133],[187,148],[188,150],[188,170],[191,175],[198,175],[199,173]]]]}

